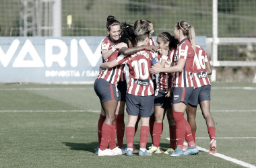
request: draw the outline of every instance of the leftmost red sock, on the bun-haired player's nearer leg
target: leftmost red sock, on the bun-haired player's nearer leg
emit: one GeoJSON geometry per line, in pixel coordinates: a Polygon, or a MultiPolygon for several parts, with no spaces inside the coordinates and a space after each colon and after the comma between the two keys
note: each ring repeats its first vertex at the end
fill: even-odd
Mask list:
{"type": "Polygon", "coordinates": [[[103,123],[102,133],[101,133],[102,138],[101,138],[101,142],[100,142],[100,150],[104,151],[105,149],[108,148],[108,141],[110,139],[112,129],[113,129],[112,125],[103,123]]]}

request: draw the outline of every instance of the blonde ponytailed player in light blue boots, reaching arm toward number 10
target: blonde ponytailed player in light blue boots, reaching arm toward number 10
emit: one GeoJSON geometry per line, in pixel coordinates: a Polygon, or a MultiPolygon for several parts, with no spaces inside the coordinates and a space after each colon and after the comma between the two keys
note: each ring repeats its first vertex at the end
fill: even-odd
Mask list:
{"type": "Polygon", "coordinates": [[[177,149],[173,157],[199,153],[191,136],[191,127],[184,118],[189,97],[193,92],[193,59],[195,55],[195,30],[188,22],[181,21],[174,26],[174,38],[179,41],[174,56],[174,66],[169,68],[150,69],[151,73],[173,73],[172,114],[176,123],[177,149]],[[186,136],[185,136],[186,135],[186,136]],[[186,138],[189,147],[183,153],[183,142],[186,138]]]}

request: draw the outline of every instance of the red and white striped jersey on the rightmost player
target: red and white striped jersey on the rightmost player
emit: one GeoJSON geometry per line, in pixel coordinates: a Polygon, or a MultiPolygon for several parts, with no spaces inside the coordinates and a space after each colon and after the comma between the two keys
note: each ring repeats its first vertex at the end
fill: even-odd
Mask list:
{"type": "Polygon", "coordinates": [[[203,47],[196,45],[196,52],[193,62],[193,85],[194,88],[211,85],[207,76],[205,62],[210,61],[203,47]]]}

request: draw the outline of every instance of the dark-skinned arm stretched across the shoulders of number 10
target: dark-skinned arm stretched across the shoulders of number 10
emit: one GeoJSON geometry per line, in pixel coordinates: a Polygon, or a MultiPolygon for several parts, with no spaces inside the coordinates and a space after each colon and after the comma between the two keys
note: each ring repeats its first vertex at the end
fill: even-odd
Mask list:
{"type": "Polygon", "coordinates": [[[139,52],[141,50],[148,50],[148,51],[155,52],[156,50],[158,50],[158,48],[156,46],[135,46],[131,48],[121,48],[119,50],[119,53],[123,55],[129,55],[129,54],[139,52]]]}

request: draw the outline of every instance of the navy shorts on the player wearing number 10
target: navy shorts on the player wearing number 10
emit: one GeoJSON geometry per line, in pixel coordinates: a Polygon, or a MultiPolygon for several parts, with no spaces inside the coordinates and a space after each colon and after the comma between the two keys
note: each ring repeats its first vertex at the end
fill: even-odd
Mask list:
{"type": "Polygon", "coordinates": [[[154,113],[154,95],[138,96],[126,93],[126,112],[131,116],[150,117],[154,113]]]}

